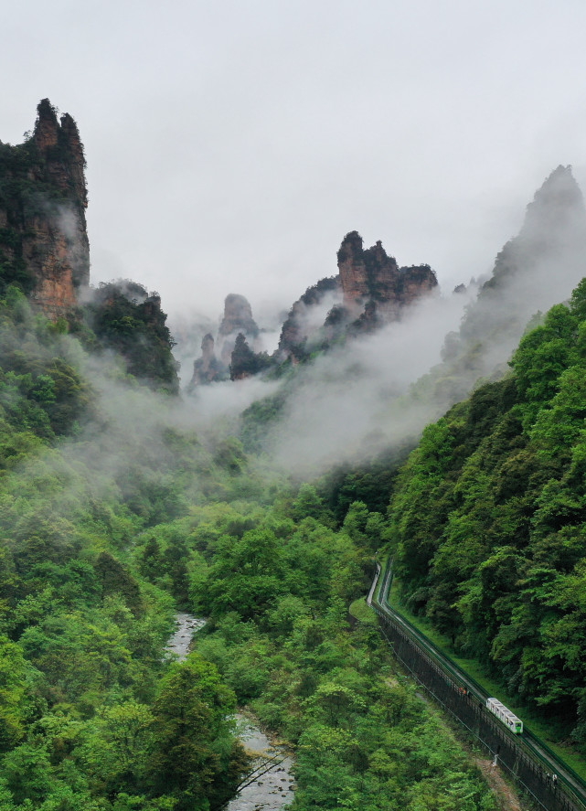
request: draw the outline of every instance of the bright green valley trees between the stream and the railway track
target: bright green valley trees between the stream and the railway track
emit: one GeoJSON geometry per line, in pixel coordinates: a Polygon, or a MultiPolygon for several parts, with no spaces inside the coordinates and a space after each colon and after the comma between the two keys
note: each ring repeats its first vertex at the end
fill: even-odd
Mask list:
{"type": "Polygon", "coordinates": [[[193,597],[211,614],[197,652],[295,744],[294,807],[415,811],[444,796],[455,803],[437,806],[446,811],[494,807],[453,738],[394,673],[376,625],[349,631],[379,514],[356,502],[335,531],[309,485],[293,503],[257,510],[254,528],[244,528],[243,505],[240,521],[228,505],[209,509],[191,535],[207,559],[193,597]]]}

